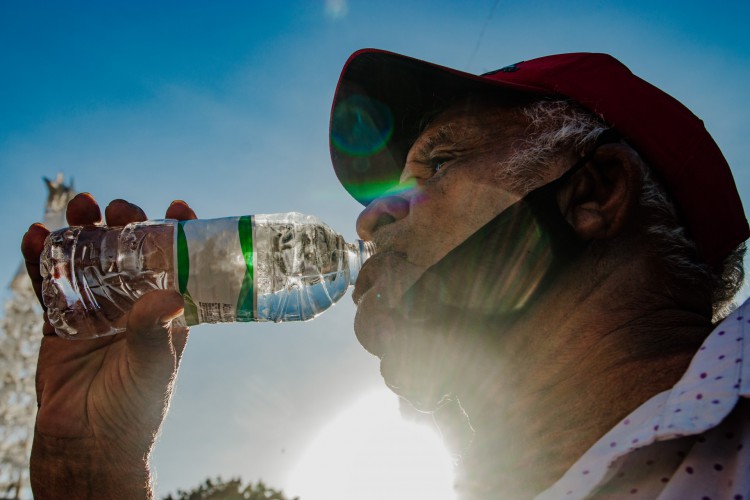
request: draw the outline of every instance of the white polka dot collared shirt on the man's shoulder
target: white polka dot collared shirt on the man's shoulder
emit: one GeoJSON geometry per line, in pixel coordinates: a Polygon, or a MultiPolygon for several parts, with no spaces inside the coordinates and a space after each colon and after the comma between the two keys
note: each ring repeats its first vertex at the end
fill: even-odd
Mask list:
{"type": "Polygon", "coordinates": [[[750,500],[750,300],[538,500],[750,500]]]}

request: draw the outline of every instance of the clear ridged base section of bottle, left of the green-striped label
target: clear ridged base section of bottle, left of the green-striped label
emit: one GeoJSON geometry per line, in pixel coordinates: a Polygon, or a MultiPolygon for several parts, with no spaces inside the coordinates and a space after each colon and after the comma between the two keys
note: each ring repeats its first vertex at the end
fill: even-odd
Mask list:
{"type": "Polygon", "coordinates": [[[40,269],[52,326],[84,338],[124,331],[138,298],[173,286],[172,234],[173,224],[163,221],[51,233],[40,269]]]}

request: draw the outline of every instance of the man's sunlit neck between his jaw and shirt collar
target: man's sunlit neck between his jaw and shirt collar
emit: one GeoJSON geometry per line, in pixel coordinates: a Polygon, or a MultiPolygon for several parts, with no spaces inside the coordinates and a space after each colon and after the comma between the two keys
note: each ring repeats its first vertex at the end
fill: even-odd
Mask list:
{"type": "Polygon", "coordinates": [[[629,267],[592,283],[560,283],[564,294],[546,293],[477,360],[463,385],[470,389],[457,391],[475,431],[459,490],[534,496],[679,380],[710,318],[650,292],[637,279],[642,269],[629,267]]]}

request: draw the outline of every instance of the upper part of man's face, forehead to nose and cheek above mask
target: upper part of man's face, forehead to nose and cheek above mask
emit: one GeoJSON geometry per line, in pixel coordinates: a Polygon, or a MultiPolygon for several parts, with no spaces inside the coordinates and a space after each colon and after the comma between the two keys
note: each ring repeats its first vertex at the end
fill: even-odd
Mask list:
{"type": "Polygon", "coordinates": [[[519,198],[502,178],[503,162],[523,133],[519,122],[501,108],[442,113],[410,148],[398,194],[362,212],[360,236],[417,266],[440,260],[519,198]],[[392,213],[393,203],[408,206],[392,213]],[[388,216],[396,220],[383,224],[388,216]]]}

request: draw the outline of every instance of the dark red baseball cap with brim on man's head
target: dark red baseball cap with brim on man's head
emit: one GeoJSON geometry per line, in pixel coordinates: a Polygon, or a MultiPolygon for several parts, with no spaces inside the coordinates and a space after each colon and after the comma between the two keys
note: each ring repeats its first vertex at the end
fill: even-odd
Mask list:
{"type": "Polygon", "coordinates": [[[477,76],[382,50],[357,51],[333,99],[336,175],[368,204],[398,183],[426,116],[487,92],[561,96],[601,117],[657,172],[707,263],[720,263],[750,236],[729,165],[703,122],[607,54],[540,57],[477,76]]]}

